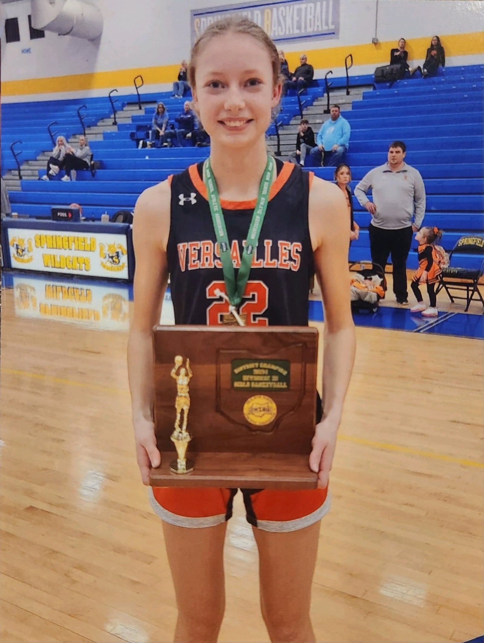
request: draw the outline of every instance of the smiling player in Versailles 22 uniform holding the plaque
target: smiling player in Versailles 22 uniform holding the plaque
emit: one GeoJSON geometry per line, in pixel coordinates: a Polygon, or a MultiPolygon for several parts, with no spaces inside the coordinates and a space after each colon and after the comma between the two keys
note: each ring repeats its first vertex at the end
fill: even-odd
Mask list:
{"type": "MultiPolygon", "coordinates": [[[[138,465],[148,485],[150,467],[160,464],[152,416],[152,328],[168,274],[175,323],[217,325],[238,317],[267,326],[307,325],[309,281],[316,272],[325,307],[324,411],[308,464],[318,473],[318,489],[243,493],[259,552],[269,637],[309,643],[316,640],[309,607],[319,521],[329,508],[328,473],[355,351],[348,208],[336,185],[267,155],[265,131],[280,102],[282,79],[278,52],[261,28],[246,19],[211,24],[193,46],[188,79],[197,118],[210,134],[210,158],[145,190],[134,214],[128,361],[138,465]],[[258,244],[248,249],[264,190],[269,199],[258,244]],[[217,201],[227,244],[217,242],[220,230],[211,216],[217,201]],[[249,255],[249,278],[237,305],[224,281],[224,252],[236,270],[249,255]]],[[[163,520],[179,610],[175,641],[217,640],[225,609],[224,537],[235,493],[150,488],[152,507],[163,520]]]]}

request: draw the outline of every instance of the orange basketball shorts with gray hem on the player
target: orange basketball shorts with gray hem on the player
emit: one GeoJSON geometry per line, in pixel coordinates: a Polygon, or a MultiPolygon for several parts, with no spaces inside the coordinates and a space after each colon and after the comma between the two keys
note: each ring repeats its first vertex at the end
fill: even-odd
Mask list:
{"type": "MultiPolygon", "coordinates": [[[[151,487],[150,504],[156,514],[178,527],[215,527],[229,520],[238,489],[151,487]]],[[[289,532],[309,527],[329,511],[326,489],[275,491],[241,489],[247,521],[264,531],[289,532]]]]}

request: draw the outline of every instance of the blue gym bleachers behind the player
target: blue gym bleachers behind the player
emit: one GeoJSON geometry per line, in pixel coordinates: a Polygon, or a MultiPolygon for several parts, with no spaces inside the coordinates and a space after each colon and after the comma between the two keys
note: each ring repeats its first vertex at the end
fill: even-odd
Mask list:
{"type": "MultiPolygon", "coordinates": [[[[372,76],[353,77],[351,85],[372,84],[372,76]]],[[[333,87],[344,87],[345,78],[331,79],[333,87]]],[[[303,96],[305,107],[323,94],[324,83],[314,82],[303,96]]],[[[466,232],[483,231],[483,66],[441,69],[435,78],[409,78],[391,87],[380,84],[365,91],[351,111],[343,114],[352,125],[347,161],[352,167],[352,187],[364,174],[386,161],[391,140],[407,143],[406,161],[416,167],[426,184],[427,210],[424,224],[436,225],[445,231],[442,244],[450,249],[466,232]]],[[[166,94],[143,95],[143,102],[163,100],[170,120],[180,111],[183,100],[166,94]]],[[[119,96],[117,108],[136,103],[136,97],[119,96]]],[[[22,159],[35,158],[51,148],[46,123],[58,120],[56,129],[63,134],[78,133],[80,126],[76,109],[87,104],[89,118],[108,118],[111,105],[106,98],[84,101],[55,101],[37,105],[3,105],[2,168],[14,168],[8,145],[24,131],[24,123],[35,118],[33,131],[24,136],[22,159]],[[35,155],[35,156],[29,156],[35,155]]],[[[278,121],[289,123],[298,114],[295,96],[283,100],[278,121]]],[[[102,141],[91,141],[95,158],[102,159],[102,168],[93,178],[89,172],[78,172],[76,183],[53,181],[21,181],[21,192],[11,192],[13,210],[32,217],[49,217],[54,205],[75,201],[81,203],[87,219],[100,219],[102,213],[132,209],[138,195],[148,186],[163,181],[169,174],[180,172],[190,163],[206,158],[209,150],[136,149],[129,138],[136,124],[150,125],[151,110],[133,115],[133,123],[121,123],[117,132],[105,132],[102,141]]],[[[332,168],[311,168],[319,177],[332,180],[332,168]]],[[[43,174],[44,172],[40,172],[43,174]]],[[[354,199],[355,221],[361,228],[359,240],[350,248],[350,259],[368,258],[370,248],[368,225],[370,214],[354,199]]],[[[462,258],[463,267],[474,267],[479,258],[462,258]]],[[[415,248],[409,256],[409,267],[417,266],[415,248]]]]}

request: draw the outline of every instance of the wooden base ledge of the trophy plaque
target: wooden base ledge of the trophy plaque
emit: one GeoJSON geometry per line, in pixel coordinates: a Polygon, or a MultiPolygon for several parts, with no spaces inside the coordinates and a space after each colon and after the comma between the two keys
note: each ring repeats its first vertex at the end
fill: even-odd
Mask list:
{"type": "MultiPolygon", "coordinates": [[[[309,469],[309,454],[191,453],[193,471],[177,473],[173,451],[161,453],[161,465],[151,469],[152,487],[239,487],[240,489],[316,489],[318,476],[309,469]]],[[[189,461],[187,460],[187,467],[189,461]]]]}

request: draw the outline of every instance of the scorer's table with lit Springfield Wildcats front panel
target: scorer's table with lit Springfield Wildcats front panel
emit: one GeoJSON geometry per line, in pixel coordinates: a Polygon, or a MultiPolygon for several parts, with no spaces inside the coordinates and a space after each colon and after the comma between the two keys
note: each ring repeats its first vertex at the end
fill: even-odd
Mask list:
{"type": "Polygon", "coordinates": [[[132,230],[125,223],[4,219],[3,267],[132,282],[132,230]]]}

